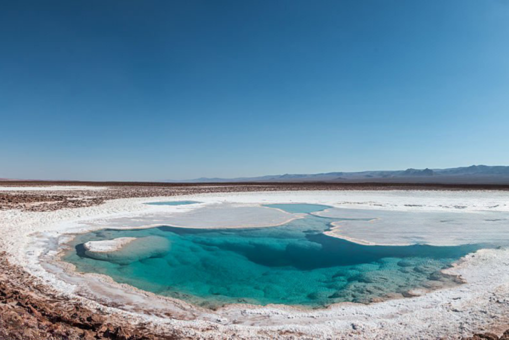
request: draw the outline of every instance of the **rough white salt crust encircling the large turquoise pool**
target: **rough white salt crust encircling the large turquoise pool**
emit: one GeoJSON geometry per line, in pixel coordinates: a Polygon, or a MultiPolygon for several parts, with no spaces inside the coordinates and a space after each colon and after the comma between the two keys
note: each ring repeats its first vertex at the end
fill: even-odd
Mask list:
{"type": "MultiPolygon", "coordinates": [[[[498,211],[509,212],[506,192],[483,191],[338,191],[272,192],[178,196],[172,200],[193,199],[203,205],[221,202],[290,203],[306,202],[335,207],[369,208],[394,211],[498,211]]],[[[35,213],[0,212],[0,249],[63,296],[79,299],[91,308],[117,313],[132,322],[151,322],[163,331],[180,329],[194,338],[458,338],[474,332],[506,328],[509,315],[509,250],[481,250],[467,255],[446,272],[460,275],[466,283],[423,296],[389,300],[371,305],[343,303],[327,309],[298,310],[286,306],[229,305],[217,311],[194,308],[181,301],[162,299],[94,275],[72,276],[59,271],[46,259],[54,257],[56,242],[64,234],[98,229],[112,218],[138,219],[148,214],[187,212],[181,206],[145,205],[144,202],[170,200],[167,197],[118,199],[99,206],[35,213]],[[48,247],[48,245],[50,245],[48,247]],[[87,293],[82,285],[89,285],[87,293]],[[123,288],[122,288],[123,287],[123,288]],[[124,290],[122,290],[124,289],[124,290]],[[94,292],[97,290],[98,292],[94,292]],[[94,301],[94,294],[123,299],[118,307],[94,301]],[[123,305],[123,306],[120,306],[123,305]],[[145,308],[169,310],[172,318],[146,315],[145,308]],[[194,308],[194,309],[193,309],[194,308]],[[185,311],[185,312],[184,312],[185,311]],[[192,314],[192,318],[187,313],[192,314]],[[180,313],[180,314],[179,314],[180,313]]],[[[120,227],[120,226],[119,226],[120,227]]],[[[60,240],[59,240],[60,238],[60,240]]],[[[102,302],[107,300],[101,299],[102,302]]]]}

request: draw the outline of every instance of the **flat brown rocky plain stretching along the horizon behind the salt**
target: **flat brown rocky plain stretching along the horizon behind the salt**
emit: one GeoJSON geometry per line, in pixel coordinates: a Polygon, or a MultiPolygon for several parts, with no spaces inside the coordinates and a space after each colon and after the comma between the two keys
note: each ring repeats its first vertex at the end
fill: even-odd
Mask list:
{"type": "Polygon", "coordinates": [[[187,194],[296,190],[509,190],[503,185],[439,185],[395,183],[158,183],[158,182],[82,182],[82,181],[0,181],[0,211],[54,211],[62,208],[91,206],[108,199],[177,196],[187,194]],[[91,186],[105,190],[1,191],[2,186],[91,186]]]}

